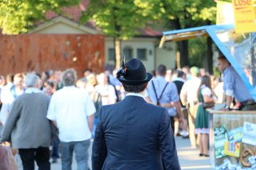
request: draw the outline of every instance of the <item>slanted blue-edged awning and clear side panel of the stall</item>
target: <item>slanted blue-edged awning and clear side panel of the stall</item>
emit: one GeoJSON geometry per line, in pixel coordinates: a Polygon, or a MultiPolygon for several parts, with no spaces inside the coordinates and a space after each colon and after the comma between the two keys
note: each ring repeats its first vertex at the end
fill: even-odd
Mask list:
{"type": "Polygon", "coordinates": [[[163,34],[160,46],[166,41],[210,36],[220,52],[238,72],[250,95],[256,101],[256,32],[235,33],[234,25],[230,24],[170,30],[163,34]]]}

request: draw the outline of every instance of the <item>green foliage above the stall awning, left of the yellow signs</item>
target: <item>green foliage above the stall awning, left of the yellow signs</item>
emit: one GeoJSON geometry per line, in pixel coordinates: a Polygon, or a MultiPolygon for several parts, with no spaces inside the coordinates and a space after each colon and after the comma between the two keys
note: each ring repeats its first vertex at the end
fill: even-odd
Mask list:
{"type": "MultiPolygon", "coordinates": [[[[134,4],[144,8],[146,16],[154,21],[179,20],[181,28],[191,28],[204,21],[215,21],[216,4],[213,1],[198,0],[134,0],[134,4]]],[[[172,25],[169,25],[173,28],[172,25]]]]}

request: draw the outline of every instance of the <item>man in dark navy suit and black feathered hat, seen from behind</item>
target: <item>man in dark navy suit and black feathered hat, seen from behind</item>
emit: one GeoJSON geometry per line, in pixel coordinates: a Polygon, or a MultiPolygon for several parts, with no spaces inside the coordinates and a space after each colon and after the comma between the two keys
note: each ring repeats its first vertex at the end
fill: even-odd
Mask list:
{"type": "Polygon", "coordinates": [[[152,75],[131,59],[117,72],[123,101],[100,109],[92,147],[92,169],[181,169],[166,108],[144,100],[152,75]]]}

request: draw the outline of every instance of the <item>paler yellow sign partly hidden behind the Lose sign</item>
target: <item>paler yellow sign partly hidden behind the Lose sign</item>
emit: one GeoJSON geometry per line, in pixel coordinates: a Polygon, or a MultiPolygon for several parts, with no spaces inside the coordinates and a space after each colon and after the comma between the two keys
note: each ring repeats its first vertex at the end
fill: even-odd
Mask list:
{"type": "Polygon", "coordinates": [[[217,1],[217,20],[216,25],[234,24],[233,5],[225,1],[217,1]]]}

